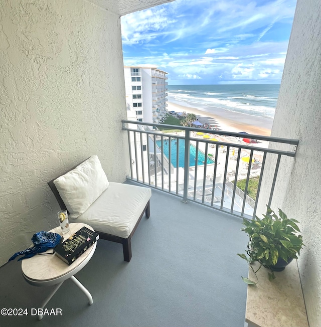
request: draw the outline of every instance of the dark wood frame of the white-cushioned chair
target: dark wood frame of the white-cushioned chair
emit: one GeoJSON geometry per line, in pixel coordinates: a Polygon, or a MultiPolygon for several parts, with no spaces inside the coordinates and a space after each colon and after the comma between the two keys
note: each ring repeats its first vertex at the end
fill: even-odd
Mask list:
{"type": "MultiPolygon", "coordinates": [[[[83,162],[83,161],[82,161],[83,162]]],[[[79,164],[80,165],[80,164],[79,164]]],[[[77,165],[77,166],[79,166],[77,165]]],[[[72,171],[73,169],[75,169],[77,166],[73,167],[72,169],[70,169],[69,171],[65,172],[64,174],[61,174],[60,176],[63,176],[65,175],[66,173],[72,171]]],[[[58,176],[58,177],[60,177],[58,176]]],[[[52,192],[54,193],[57,201],[58,201],[58,204],[61,208],[61,210],[67,210],[67,207],[64,203],[64,201],[62,200],[62,198],[60,197],[60,194],[56,188],[56,185],[54,184],[54,181],[58,178],[56,177],[55,179],[51,180],[50,182],[48,182],[48,185],[50,187],[50,189],[52,190],[52,192]]],[[[67,210],[68,212],[68,210],[67,210]]],[[[104,232],[100,232],[100,231],[95,231],[96,233],[99,234],[99,237],[103,240],[108,240],[108,241],[112,241],[112,242],[116,242],[116,243],[121,243],[122,244],[122,250],[123,250],[123,254],[124,254],[124,261],[127,261],[129,262],[130,259],[131,259],[131,238],[142,218],[142,216],[144,215],[144,213],[146,213],[146,218],[149,218],[150,216],[150,205],[149,205],[149,200],[144,208],[144,210],[142,211],[140,217],[138,218],[137,220],[137,223],[135,225],[135,227],[133,228],[132,232],[130,233],[130,235],[127,237],[127,238],[122,238],[122,237],[119,237],[119,236],[115,236],[115,235],[112,235],[112,234],[107,234],[107,233],[104,233],[104,232]]],[[[69,214],[69,212],[68,212],[69,214]]]]}

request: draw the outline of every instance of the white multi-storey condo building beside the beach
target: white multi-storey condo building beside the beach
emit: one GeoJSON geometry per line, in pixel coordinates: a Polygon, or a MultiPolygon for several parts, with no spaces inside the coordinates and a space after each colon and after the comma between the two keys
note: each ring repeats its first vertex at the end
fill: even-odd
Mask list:
{"type": "Polygon", "coordinates": [[[156,67],[124,66],[127,113],[131,117],[157,123],[165,116],[168,95],[166,74],[156,67]]]}

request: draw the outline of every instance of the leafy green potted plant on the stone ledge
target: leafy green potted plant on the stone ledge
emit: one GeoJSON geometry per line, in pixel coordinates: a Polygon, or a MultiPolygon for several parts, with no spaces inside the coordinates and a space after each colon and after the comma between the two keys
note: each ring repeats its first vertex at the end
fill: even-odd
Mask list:
{"type": "MultiPolygon", "coordinates": [[[[248,234],[249,242],[244,253],[237,253],[241,258],[245,259],[253,273],[263,267],[270,269],[268,273],[269,280],[275,278],[274,271],[281,271],[293,259],[297,259],[302,248],[302,235],[295,219],[287,218],[285,213],[279,209],[278,216],[269,206],[263,219],[255,216],[250,221],[243,219],[245,228],[241,230],[248,234]],[[252,263],[258,262],[260,266],[254,270],[252,263]]],[[[257,284],[256,282],[242,277],[247,284],[257,284]]]]}

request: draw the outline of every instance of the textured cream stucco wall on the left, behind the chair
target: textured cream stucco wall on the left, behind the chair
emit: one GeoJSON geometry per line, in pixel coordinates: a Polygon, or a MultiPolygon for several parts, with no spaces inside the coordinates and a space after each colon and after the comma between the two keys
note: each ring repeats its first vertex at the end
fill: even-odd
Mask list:
{"type": "Polygon", "coordinates": [[[98,154],[129,173],[120,19],[87,1],[0,6],[0,265],[57,226],[47,181],[98,154]]]}

